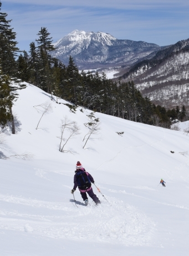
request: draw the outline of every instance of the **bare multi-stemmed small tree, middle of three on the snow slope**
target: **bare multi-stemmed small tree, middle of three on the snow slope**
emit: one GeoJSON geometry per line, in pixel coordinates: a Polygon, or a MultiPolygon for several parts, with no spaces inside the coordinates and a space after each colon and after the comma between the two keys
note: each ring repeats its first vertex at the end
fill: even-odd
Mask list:
{"type": "Polygon", "coordinates": [[[68,119],[67,116],[64,117],[63,120],[61,120],[60,125],[60,132],[61,136],[60,139],[60,145],[59,145],[59,151],[60,152],[71,152],[71,150],[64,150],[64,146],[67,144],[69,139],[72,139],[75,135],[80,134],[79,127],[75,121],[71,121],[68,119]],[[68,131],[69,135],[67,138],[63,137],[65,132],[68,131]],[[64,145],[62,146],[62,141],[64,141],[64,145]]]}

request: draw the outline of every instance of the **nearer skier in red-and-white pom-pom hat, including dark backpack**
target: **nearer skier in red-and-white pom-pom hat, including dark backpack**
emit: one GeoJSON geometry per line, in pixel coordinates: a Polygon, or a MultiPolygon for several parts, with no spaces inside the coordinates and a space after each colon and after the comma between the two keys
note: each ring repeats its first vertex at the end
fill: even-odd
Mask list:
{"type": "Polygon", "coordinates": [[[91,188],[91,183],[94,183],[93,177],[85,171],[81,163],[78,161],[76,164],[76,171],[74,175],[74,188],[71,189],[71,194],[74,194],[77,186],[79,188],[80,194],[85,201],[85,204],[88,204],[88,197],[86,192],[93,199],[93,201],[97,204],[100,204],[100,200],[94,194],[93,189],[91,188]]]}

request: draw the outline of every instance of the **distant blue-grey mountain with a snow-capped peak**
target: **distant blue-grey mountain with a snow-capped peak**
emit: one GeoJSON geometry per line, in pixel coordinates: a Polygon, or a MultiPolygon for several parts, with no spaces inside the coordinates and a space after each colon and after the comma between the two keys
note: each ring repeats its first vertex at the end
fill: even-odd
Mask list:
{"type": "Polygon", "coordinates": [[[53,57],[68,64],[69,56],[81,69],[120,66],[139,61],[161,47],[143,41],[118,40],[104,32],[74,30],[56,43],[53,57]]]}

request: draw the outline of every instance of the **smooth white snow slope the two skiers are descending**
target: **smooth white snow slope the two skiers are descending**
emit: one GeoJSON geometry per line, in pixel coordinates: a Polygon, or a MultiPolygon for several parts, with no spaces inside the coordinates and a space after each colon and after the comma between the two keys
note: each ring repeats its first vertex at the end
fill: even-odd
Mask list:
{"type": "Polygon", "coordinates": [[[84,150],[84,123],[91,111],[80,109],[74,114],[29,84],[19,91],[13,106],[17,134],[7,131],[1,145],[9,157],[0,159],[1,255],[186,255],[189,159],[181,153],[188,151],[189,137],[95,113],[100,140],[90,140],[84,150]],[[42,117],[43,129],[36,130],[41,113],[33,106],[46,101],[53,111],[42,117]],[[75,154],[58,151],[65,115],[80,126],[66,147],[75,154]],[[26,151],[33,160],[11,156],[26,151]],[[77,189],[75,207],[70,190],[78,160],[109,203],[93,186],[101,205],[89,198],[90,205],[84,206],[77,189]],[[161,178],[166,188],[159,185],[161,178]]]}

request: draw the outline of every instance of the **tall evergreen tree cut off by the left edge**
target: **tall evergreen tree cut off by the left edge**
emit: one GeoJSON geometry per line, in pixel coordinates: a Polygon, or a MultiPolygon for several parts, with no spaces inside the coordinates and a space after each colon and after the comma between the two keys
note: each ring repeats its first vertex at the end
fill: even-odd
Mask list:
{"type": "MultiPolygon", "coordinates": [[[[1,11],[0,0],[0,11],[1,11]]],[[[2,100],[1,111],[3,117],[2,125],[5,125],[6,120],[12,120],[12,133],[15,134],[14,129],[14,117],[12,114],[13,100],[16,99],[16,90],[22,89],[25,85],[18,82],[17,75],[17,62],[16,56],[19,51],[17,47],[16,33],[13,32],[13,28],[9,24],[11,20],[7,20],[7,13],[0,12],[0,68],[1,68],[1,88],[2,88],[2,100]],[[14,77],[14,78],[13,78],[14,77]],[[3,85],[4,83],[4,85],[3,85]],[[4,114],[3,114],[4,113],[4,114]]]]}

